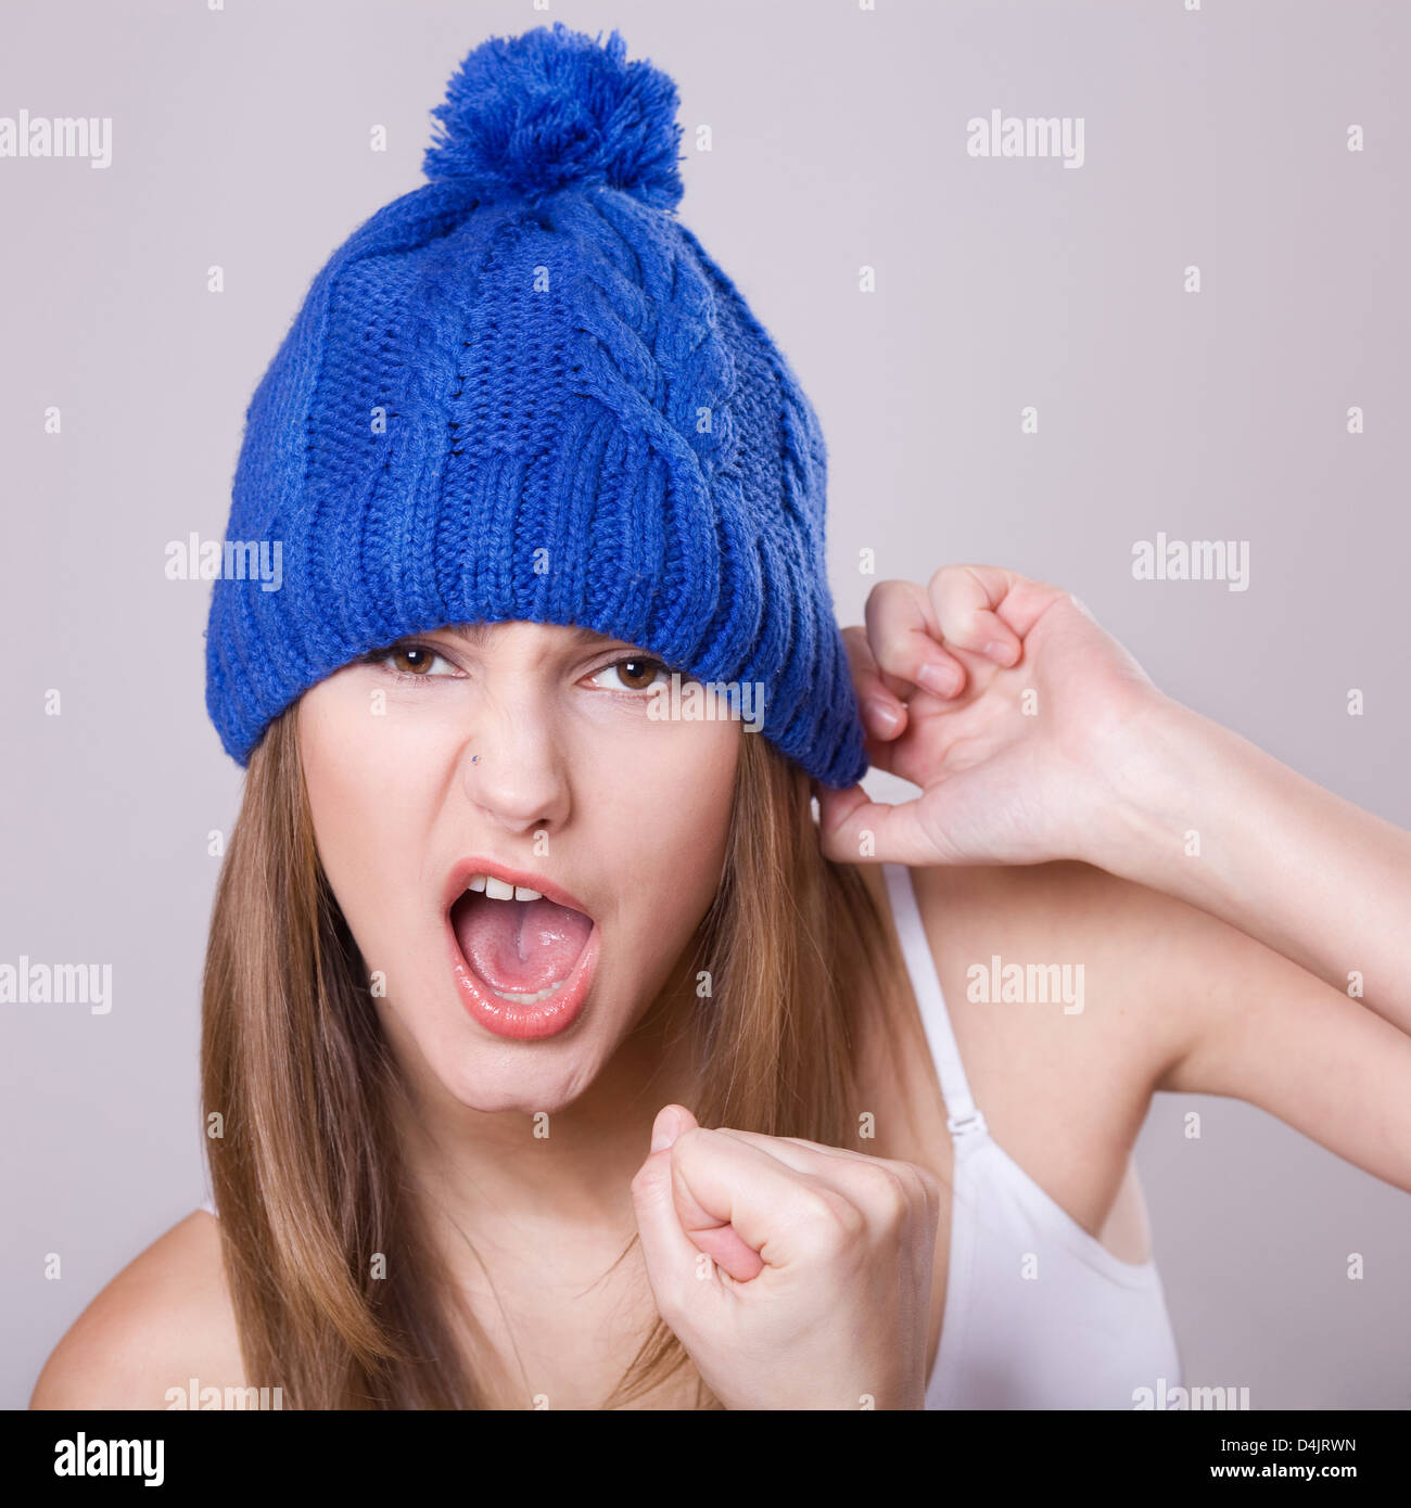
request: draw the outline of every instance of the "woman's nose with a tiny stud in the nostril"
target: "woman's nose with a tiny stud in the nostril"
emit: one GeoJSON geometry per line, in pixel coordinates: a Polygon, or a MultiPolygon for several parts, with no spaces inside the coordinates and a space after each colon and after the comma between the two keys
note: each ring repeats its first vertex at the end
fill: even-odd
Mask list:
{"type": "Polygon", "coordinates": [[[569,814],[567,768],[548,709],[486,698],[460,748],[462,789],[487,823],[513,837],[557,831],[569,814]]]}

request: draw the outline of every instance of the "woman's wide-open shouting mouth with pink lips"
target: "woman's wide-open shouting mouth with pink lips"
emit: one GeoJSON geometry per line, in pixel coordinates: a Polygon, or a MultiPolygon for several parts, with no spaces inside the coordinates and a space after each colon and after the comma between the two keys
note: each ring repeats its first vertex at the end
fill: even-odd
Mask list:
{"type": "Polygon", "coordinates": [[[450,906],[456,970],[471,1015],[500,1036],[561,1031],[587,994],[587,912],[500,875],[469,873],[450,906]]]}

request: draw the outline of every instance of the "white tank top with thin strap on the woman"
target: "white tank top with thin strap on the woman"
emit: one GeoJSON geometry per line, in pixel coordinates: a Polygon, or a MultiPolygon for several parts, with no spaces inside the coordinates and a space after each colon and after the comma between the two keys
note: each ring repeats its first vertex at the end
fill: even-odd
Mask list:
{"type": "Polygon", "coordinates": [[[1154,1258],[1123,1262],[1001,1148],[970,1095],[911,872],[883,864],[955,1146],[951,1268],[927,1408],[1133,1408],[1180,1386],[1154,1258]]]}

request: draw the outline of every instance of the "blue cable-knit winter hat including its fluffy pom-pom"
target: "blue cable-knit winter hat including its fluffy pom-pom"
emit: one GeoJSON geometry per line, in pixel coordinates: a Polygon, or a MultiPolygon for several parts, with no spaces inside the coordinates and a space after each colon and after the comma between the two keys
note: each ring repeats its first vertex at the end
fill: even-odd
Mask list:
{"type": "Polygon", "coordinates": [[[429,182],[314,277],[226,529],[228,561],[278,544],[281,572],[211,599],[207,707],[240,765],[368,650],[519,620],[762,685],[765,737],[827,786],[862,777],[822,434],[675,217],[676,104],[616,32],[492,38],[433,112],[429,182]]]}

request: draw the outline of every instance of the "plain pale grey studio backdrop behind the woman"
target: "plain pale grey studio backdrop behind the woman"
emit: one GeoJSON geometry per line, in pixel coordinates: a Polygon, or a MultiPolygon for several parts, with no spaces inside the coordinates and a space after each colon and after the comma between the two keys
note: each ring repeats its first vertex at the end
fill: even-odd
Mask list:
{"type": "MultiPolygon", "coordinates": [[[[0,115],[112,116],[113,161],[0,160],[0,961],[115,983],[106,1016],[0,1006],[0,1404],[202,1194],[207,841],[238,774],[210,588],[164,579],[166,541],[220,537],[251,392],[332,249],[420,181],[453,68],[555,18],[681,86],[682,217],[822,416],[844,621],[865,546],[878,578],[1058,582],[1173,695],[1411,826],[1405,6],[9,3],[0,115]],[[1082,116],[1084,167],[972,160],[991,109],[1082,116]],[[1248,540],[1250,590],[1133,581],[1156,531],[1248,540]]],[[[1405,1194],[1198,1096],[1157,1098],[1138,1161],[1188,1381],[1411,1404],[1405,1194]]]]}

